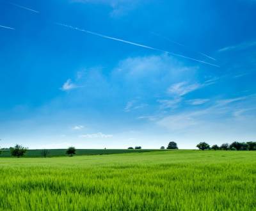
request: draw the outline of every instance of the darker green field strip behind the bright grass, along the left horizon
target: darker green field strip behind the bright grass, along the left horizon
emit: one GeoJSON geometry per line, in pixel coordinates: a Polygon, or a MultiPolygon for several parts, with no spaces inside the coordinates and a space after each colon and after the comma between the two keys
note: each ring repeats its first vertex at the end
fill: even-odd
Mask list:
{"type": "MultiPolygon", "coordinates": [[[[67,156],[67,149],[52,149],[49,150],[49,154],[47,157],[59,157],[59,156],[67,156]]],[[[131,153],[131,152],[152,152],[157,150],[90,150],[90,149],[77,149],[76,155],[110,155],[117,153],[131,153]]],[[[42,150],[28,150],[24,157],[42,157],[42,150]]],[[[10,150],[4,150],[0,157],[11,157],[10,150]]]]}

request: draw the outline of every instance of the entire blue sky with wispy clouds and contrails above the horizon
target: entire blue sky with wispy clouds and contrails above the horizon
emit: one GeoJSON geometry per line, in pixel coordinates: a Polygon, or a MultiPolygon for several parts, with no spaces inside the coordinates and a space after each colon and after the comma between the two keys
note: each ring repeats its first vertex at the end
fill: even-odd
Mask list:
{"type": "Polygon", "coordinates": [[[255,10],[253,0],[0,1],[0,146],[255,141],[255,10]]]}

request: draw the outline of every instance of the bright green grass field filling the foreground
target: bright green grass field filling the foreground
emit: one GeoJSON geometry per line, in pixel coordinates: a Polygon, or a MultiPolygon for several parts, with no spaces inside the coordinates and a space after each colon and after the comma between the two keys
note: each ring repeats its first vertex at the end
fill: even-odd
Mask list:
{"type": "Polygon", "coordinates": [[[256,210],[256,152],[0,159],[0,210],[256,210]]]}

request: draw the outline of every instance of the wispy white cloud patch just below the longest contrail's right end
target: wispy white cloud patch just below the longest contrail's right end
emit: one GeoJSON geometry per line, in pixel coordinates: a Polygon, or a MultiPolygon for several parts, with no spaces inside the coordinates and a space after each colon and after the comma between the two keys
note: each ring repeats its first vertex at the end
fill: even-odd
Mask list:
{"type": "Polygon", "coordinates": [[[178,82],[176,84],[173,84],[168,88],[168,93],[178,96],[183,96],[188,94],[191,91],[198,90],[202,86],[198,83],[189,84],[188,82],[178,82]]]}

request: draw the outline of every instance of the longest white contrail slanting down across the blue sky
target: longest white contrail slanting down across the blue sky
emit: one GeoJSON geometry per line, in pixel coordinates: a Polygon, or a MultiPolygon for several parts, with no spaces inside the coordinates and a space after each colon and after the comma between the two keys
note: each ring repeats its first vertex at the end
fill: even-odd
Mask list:
{"type": "Polygon", "coordinates": [[[77,27],[68,26],[68,25],[66,25],[66,24],[60,24],[60,23],[56,23],[56,24],[58,24],[59,26],[68,27],[68,28],[70,28],[70,29],[74,29],[74,30],[77,30],[77,31],[83,31],[84,33],[88,33],[88,34],[91,34],[91,35],[100,36],[100,37],[102,37],[102,38],[106,38],[106,39],[109,39],[109,40],[115,40],[115,41],[118,41],[118,42],[124,42],[124,43],[130,44],[130,45],[136,45],[136,46],[139,46],[139,47],[143,47],[143,48],[145,48],[145,49],[151,49],[151,50],[153,50],[153,51],[164,52],[164,53],[166,53],[166,54],[171,54],[171,55],[173,55],[173,56],[179,56],[179,57],[181,57],[181,58],[186,58],[186,59],[190,59],[190,60],[193,60],[193,61],[198,61],[198,62],[204,63],[204,64],[206,64],[206,65],[211,65],[211,66],[220,67],[220,66],[218,66],[218,65],[214,65],[214,64],[208,63],[208,62],[206,62],[206,61],[201,61],[201,60],[198,60],[198,59],[190,58],[190,57],[188,57],[188,56],[183,56],[183,55],[180,55],[180,54],[175,54],[175,53],[169,52],[169,51],[163,51],[163,50],[161,50],[161,49],[156,49],[156,48],[154,48],[154,47],[150,47],[150,46],[147,46],[147,45],[141,45],[141,44],[139,44],[139,43],[129,42],[129,41],[122,40],[122,39],[118,39],[118,38],[114,38],[114,37],[111,37],[111,36],[101,35],[101,34],[99,34],[99,33],[93,32],[93,31],[87,31],[87,30],[84,30],[84,29],[79,29],[79,28],[77,28],[77,27]]]}

